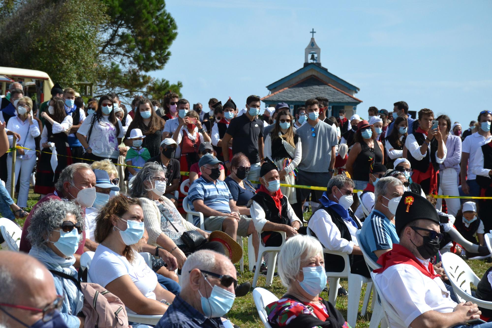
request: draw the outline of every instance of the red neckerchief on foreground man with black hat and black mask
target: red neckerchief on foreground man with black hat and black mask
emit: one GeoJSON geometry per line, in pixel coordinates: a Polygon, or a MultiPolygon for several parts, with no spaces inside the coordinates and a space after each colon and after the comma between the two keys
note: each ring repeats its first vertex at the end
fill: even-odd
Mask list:
{"type": "Polygon", "coordinates": [[[408,249],[401,246],[400,244],[393,244],[393,249],[381,255],[377,260],[377,263],[382,265],[382,267],[374,270],[374,273],[381,273],[392,265],[410,264],[415,266],[423,275],[431,279],[441,276],[440,274],[435,273],[434,267],[432,266],[431,262],[429,262],[429,270],[426,270],[424,264],[417,260],[415,255],[413,255],[408,249]]]}

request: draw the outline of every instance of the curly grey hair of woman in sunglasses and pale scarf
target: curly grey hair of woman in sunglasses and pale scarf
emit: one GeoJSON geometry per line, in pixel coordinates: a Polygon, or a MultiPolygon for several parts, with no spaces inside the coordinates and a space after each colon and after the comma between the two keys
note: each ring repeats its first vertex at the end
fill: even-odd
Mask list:
{"type": "MultiPolygon", "coordinates": [[[[82,209],[74,201],[50,199],[39,204],[32,213],[31,225],[28,228],[28,240],[32,246],[45,247],[50,232],[60,229],[62,222],[66,221],[67,213],[73,214],[77,223],[84,226],[81,212],[82,209]]],[[[80,238],[82,238],[82,234],[80,238]]]]}

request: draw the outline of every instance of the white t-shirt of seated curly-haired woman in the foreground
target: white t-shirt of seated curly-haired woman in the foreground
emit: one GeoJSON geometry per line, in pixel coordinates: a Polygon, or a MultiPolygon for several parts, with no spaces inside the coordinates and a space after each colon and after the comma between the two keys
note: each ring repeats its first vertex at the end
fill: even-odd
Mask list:
{"type": "Polygon", "coordinates": [[[102,244],[97,246],[89,267],[91,281],[106,287],[107,284],[124,275],[130,276],[145,297],[155,299],[157,276],[140,254],[136,253],[135,260],[130,263],[124,256],[113,252],[106,246],[102,244]]]}

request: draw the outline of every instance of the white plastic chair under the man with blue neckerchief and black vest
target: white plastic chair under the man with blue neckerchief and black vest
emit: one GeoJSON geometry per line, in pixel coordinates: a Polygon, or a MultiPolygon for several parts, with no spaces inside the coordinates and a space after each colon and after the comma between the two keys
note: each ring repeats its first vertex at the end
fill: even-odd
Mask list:
{"type": "MultiPolygon", "coordinates": [[[[312,231],[307,228],[307,235],[313,236],[312,231]]],[[[370,291],[372,289],[372,281],[370,278],[366,278],[360,274],[354,274],[350,272],[350,259],[348,258],[348,254],[336,251],[329,251],[323,247],[323,253],[333,254],[341,256],[345,262],[343,271],[341,272],[332,272],[327,271],[326,276],[329,279],[330,290],[328,293],[328,300],[335,305],[337,303],[337,295],[338,295],[338,284],[340,282],[340,278],[347,278],[348,280],[348,305],[347,305],[347,323],[351,327],[355,327],[357,322],[357,313],[359,312],[359,301],[361,298],[361,290],[362,285],[367,283],[366,293],[364,295],[364,302],[362,303],[362,311],[361,314],[365,315],[369,303],[370,291]]],[[[329,264],[325,265],[325,269],[329,264]]]]}

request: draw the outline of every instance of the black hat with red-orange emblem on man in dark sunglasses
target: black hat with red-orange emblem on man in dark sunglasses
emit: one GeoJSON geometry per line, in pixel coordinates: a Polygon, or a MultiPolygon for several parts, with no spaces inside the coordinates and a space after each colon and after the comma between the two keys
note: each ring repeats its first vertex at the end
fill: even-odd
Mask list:
{"type": "Polygon", "coordinates": [[[412,192],[404,192],[395,214],[397,234],[410,222],[427,219],[439,224],[439,216],[435,207],[425,197],[412,192]]]}

